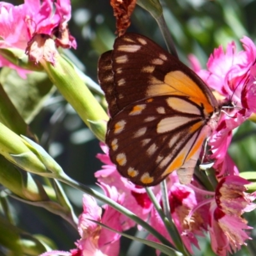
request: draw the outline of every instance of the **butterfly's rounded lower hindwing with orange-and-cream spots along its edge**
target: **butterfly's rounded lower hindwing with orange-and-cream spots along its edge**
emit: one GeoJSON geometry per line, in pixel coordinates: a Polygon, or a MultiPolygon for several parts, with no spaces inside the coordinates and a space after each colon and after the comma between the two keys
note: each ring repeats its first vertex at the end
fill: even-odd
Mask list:
{"type": "MultiPolygon", "coordinates": [[[[158,184],[180,168],[191,152],[196,154],[204,141],[205,120],[200,109],[197,114],[182,113],[170,107],[172,99],[157,96],[140,100],[122,109],[108,124],[106,143],[111,161],[135,184],[158,184]]],[[[186,99],[175,98],[179,100],[195,107],[186,99]]]]}

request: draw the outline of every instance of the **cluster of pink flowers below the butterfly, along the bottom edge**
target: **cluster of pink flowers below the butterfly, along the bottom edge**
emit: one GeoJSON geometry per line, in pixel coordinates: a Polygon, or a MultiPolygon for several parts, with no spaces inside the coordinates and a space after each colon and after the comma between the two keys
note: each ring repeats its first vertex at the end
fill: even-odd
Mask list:
{"type": "MultiPolygon", "coordinates": [[[[148,221],[173,243],[145,189],[137,188],[120,176],[108,157],[108,148],[102,145],[102,150],[105,154],[98,154],[98,157],[105,165],[95,173],[95,177],[106,195],[148,221]]],[[[207,230],[211,237],[212,250],[220,256],[236,252],[246,244],[246,239],[250,239],[247,230],[251,227],[246,225],[246,220],[241,216],[244,212],[256,208],[252,203],[256,195],[246,193],[245,185],[250,182],[231,174],[220,179],[215,191],[206,191],[196,180],[189,186],[180,184],[176,173],[172,173],[166,181],[171,215],[182,242],[190,253],[193,253],[192,244],[199,248],[196,236],[205,236],[207,230]]],[[[161,204],[160,186],[152,189],[161,204]]],[[[68,254],[53,251],[41,256],[55,255],[52,253],[68,256],[118,255],[120,236],[91,220],[99,221],[119,232],[134,227],[136,223],[111,209],[109,205],[104,205],[105,211],[101,215],[101,208],[91,196],[84,195],[83,205],[84,211],[79,218],[78,227],[81,239],[76,243],[77,249],[63,252],[68,254]]],[[[156,237],[152,235],[149,235],[148,239],[157,242],[156,237]]]]}

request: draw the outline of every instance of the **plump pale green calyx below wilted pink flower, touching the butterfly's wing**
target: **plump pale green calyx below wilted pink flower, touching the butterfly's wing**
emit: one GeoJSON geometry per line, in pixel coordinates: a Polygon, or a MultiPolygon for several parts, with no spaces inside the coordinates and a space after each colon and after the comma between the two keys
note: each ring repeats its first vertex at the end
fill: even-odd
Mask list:
{"type": "Polygon", "coordinates": [[[87,86],[85,86],[70,61],[65,60],[60,54],[56,54],[55,58],[56,63],[54,66],[47,61],[41,61],[45,72],[47,72],[52,83],[56,85],[63,97],[76,110],[84,123],[92,129],[92,132],[99,140],[102,140],[103,134],[106,133],[108,115],[87,86]],[[92,122],[97,125],[92,125],[92,122]]]}

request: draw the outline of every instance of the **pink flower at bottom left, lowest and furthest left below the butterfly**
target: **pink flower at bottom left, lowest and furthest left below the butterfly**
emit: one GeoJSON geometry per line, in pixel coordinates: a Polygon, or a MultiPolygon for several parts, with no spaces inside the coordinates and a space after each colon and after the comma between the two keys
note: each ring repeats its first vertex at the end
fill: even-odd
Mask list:
{"type": "MultiPolygon", "coordinates": [[[[114,187],[102,186],[106,196],[123,204],[124,196],[120,196],[114,187]]],[[[97,205],[96,200],[89,195],[83,196],[83,213],[79,216],[78,231],[81,236],[76,242],[76,249],[70,252],[52,251],[45,252],[40,256],[63,255],[63,256],[117,256],[120,250],[120,235],[106,228],[100,227],[93,221],[100,222],[118,232],[122,231],[120,213],[115,209],[104,205],[104,214],[97,205]],[[93,220],[93,221],[92,221],[93,220]]]]}

